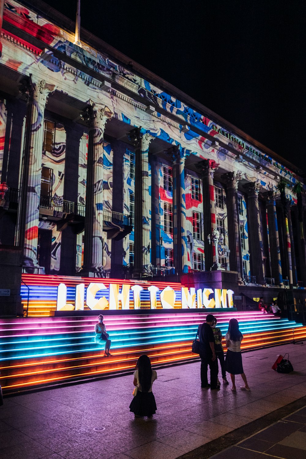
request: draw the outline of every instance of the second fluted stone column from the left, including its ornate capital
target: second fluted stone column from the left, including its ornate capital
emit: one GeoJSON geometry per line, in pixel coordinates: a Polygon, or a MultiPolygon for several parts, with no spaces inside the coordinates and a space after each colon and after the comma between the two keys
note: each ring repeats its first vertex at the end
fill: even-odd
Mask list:
{"type": "Polygon", "coordinates": [[[81,118],[89,127],[82,274],[103,277],[103,136],[111,110],[89,101],[81,118]]]}

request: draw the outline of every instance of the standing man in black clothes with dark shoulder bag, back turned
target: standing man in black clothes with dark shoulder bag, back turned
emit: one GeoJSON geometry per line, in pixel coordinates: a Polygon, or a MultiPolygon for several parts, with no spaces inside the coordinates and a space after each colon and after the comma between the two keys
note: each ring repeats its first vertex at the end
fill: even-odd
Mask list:
{"type": "Polygon", "coordinates": [[[211,326],[214,324],[215,318],[212,314],[206,316],[206,322],[199,325],[197,336],[200,340],[200,358],[201,358],[201,387],[210,387],[220,389],[217,385],[217,360],[215,353],[215,338],[211,326]],[[207,380],[207,367],[211,372],[211,383],[207,380]]]}

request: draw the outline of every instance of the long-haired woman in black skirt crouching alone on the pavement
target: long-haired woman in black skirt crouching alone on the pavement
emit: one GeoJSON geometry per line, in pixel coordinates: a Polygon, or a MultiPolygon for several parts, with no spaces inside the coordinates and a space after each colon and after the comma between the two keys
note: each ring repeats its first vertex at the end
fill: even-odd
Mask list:
{"type": "Polygon", "coordinates": [[[152,393],[152,385],[156,379],[157,374],[151,368],[150,358],[147,355],[141,355],[134,372],[134,386],[138,388],[137,394],[129,406],[135,418],[142,416],[150,418],[156,413],[155,397],[152,393]]]}

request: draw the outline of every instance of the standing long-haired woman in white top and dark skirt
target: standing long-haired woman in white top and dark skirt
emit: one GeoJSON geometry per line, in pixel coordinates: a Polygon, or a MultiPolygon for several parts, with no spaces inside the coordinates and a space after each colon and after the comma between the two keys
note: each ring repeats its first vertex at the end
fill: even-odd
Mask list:
{"type": "Polygon", "coordinates": [[[237,319],[230,319],[228,323],[228,332],[225,335],[226,347],[228,351],[225,358],[226,371],[230,373],[232,380],[232,391],[236,392],[235,375],[241,375],[244,386],[240,386],[242,391],[249,391],[250,387],[246,381],[246,377],[242,367],[240,343],[243,339],[241,331],[239,331],[239,323],[237,319]]]}

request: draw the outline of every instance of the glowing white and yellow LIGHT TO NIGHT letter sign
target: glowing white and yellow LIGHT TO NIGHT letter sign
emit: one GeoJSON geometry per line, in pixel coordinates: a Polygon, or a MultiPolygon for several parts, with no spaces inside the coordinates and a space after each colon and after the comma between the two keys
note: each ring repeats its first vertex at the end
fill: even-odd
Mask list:
{"type": "MultiPolygon", "coordinates": [[[[174,308],[232,308],[233,307],[233,290],[221,289],[198,289],[179,286],[174,289],[169,285],[160,290],[156,285],[129,285],[119,284],[106,285],[100,282],[90,282],[85,289],[85,284],[80,283],[75,287],[74,304],[67,303],[67,286],[61,282],[57,287],[56,310],[83,310],[85,305],[92,310],[116,310],[121,309],[140,309],[142,291],[149,292],[150,309],[174,308]],[[179,290],[180,289],[180,290],[179,290]],[[97,296],[98,292],[100,293],[97,296]],[[180,292],[180,302],[177,301],[178,292],[180,292]],[[85,296],[86,293],[86,296],[85,296]],[[97,297],[96,297],[97,296],[97,297]],[[86,298],[86,299],[85,299],[86,298]]],[[[148,301],[144,306],[148,306],[148,301]]]]}

